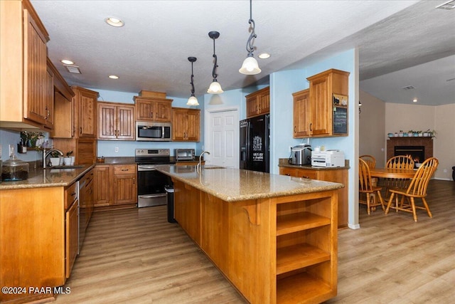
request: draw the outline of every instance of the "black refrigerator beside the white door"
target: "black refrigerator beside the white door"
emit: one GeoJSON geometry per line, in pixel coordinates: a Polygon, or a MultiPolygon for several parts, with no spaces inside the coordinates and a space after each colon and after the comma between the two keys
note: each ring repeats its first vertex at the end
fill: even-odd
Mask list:
{"type": "Polygon", "coordinates": [[[270,115],[240,120],[240,169],[270,171],[270,115]]]}

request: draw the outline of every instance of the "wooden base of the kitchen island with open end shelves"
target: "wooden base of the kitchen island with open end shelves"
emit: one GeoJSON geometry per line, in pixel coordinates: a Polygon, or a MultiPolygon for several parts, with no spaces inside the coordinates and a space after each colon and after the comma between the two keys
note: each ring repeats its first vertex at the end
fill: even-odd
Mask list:
{"type": "Polygon", "coordinates": [[[174,181],[174,199],[178,223],[250,303],[336,295],[336,190],[223,201],[174,181]]]}

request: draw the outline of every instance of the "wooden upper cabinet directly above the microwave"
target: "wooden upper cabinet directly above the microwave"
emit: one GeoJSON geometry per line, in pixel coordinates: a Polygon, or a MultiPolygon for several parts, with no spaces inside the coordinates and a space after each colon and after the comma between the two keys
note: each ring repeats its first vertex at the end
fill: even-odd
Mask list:
{"type": "Polygon", "coordinates": [[[171,99],[134,96],[134,103],[136,120],[171,122],[171,99]]]}

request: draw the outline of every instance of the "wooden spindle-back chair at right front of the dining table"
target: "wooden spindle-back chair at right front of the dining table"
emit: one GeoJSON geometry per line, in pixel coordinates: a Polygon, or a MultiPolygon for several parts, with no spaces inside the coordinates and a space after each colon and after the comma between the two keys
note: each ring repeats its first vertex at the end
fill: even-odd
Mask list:
{"type": "Polygon", "coordinates": [[[432,212],[429,211],[429,206],[427,204],[425,196],[427,196],[427,187],[429,179],[436,171],[438,164],[439,161],[435,157],[425,159],[425,161],[422,162],[422,165],[419,167],[419,169],[417,169],[417,172],[415,172],[414,177],[411,179],[409,187],[400,189],[390,189],[389,190],[390,199],[387,203],[387,209],[385,209],[385,214],[389,212],[390,208],[395,209],[397,212],[398,210],[407,211],[411,212],[412,216],[414,217],[414,221],[417,221],[416,209],[423,209],[427,210],[427,214],[429,217],[433,217],[432,212]],[[395,206],[392,206],[392,201],[394,197],[395,206]],[[398,204],[400,198],[401,198],[400,204],[398,204]],[[422,199],[424,206],[416,206],[415,204],[416,198],[422,199]]]}

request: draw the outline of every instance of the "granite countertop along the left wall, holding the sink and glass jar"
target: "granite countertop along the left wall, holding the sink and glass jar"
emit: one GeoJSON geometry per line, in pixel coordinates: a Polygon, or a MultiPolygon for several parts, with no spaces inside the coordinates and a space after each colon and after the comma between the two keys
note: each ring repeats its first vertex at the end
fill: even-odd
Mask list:
{"type": "Polygon", "coordinates": [[[94,164],[87,164],[82,168],[75,169],[29,169],[28,179],[17,182],[1,182],[0,190],[3,189],[26,189],[43,187],[66,187],[87,173],[94,164]]]}

